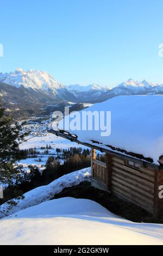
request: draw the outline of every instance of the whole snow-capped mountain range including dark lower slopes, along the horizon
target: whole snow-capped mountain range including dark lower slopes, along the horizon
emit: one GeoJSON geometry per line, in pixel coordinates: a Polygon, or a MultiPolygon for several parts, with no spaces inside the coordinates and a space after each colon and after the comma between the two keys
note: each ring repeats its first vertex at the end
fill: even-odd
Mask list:
{"type": "Polygon", "coordinates": [[[45,71],[17,68],[14,72],[0,73],[0,96],[7,112],[18,118],[42,112],[48,105],[71,102],[101,102],[118,95],[163,94],[163,84],[141,82],[130,78],[114,88],[98,84],[65,86],[45,71]]]}

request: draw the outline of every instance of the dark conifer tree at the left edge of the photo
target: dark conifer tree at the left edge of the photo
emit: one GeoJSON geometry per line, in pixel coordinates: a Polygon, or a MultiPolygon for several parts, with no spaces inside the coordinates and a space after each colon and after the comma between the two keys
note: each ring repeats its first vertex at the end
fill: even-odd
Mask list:
{"type": "Polygon", "coordinates": [[[16,175],[17,168],[14,168],[14,163],[24,156],[24,151],[20,150],[18,145],[27,133],[22,133],[22,126],[18,123],[13,124],[12,118],[7,117],[4,110],[0,99],[0,181],[8,184],[3,193],[4,198],[0,199],[0,205],[6,202],[7,209],[10,209],[17,204],[17,201],[12,198],[18,199],[20,196],[23,198],[22,191],[16,188],[21,180],[21,175],[16,175]]]}

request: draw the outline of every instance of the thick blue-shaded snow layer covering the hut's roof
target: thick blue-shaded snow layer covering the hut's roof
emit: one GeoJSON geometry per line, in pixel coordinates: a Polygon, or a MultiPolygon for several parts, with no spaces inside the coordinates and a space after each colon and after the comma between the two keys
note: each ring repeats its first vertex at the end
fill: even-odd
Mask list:
{"type": "MultiPolygon", "coordinates": [[[[83,111],[111,111],[111,134],[101,136],[101,130],[72,130],[78,141],[101,143],[101,147],[118,153],[137,154],[159,164],[163,155],[163,95],[117,96],[97,103],[83,111]]],[[[82,113],[83,111],[80,111],[82,113]]],[[[64,119],[68,122],[68,117],[64,119]]],[[[62,129],[62,123],[59,129],[62,129]]],[[[140,157],[141,158],[141,157],[140,157]]],[[[149,161],[150,162],[150,161],[149,161]]]]}

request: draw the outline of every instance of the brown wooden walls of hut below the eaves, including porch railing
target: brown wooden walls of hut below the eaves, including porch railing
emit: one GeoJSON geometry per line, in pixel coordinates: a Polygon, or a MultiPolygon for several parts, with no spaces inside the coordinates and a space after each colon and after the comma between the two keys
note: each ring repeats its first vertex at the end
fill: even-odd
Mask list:
{"type": "MultiPolygon", "coordinates": [[[[106,189],[163,218],[163,198],[159,198],[163,186],[163,170],[130,167],[120,157],[106,154],[106,163],[96,160],[92,151],[92,177],[105,184],[106,189]]],[[[162,192],[163,195],[163,192],[162,192]]]]}

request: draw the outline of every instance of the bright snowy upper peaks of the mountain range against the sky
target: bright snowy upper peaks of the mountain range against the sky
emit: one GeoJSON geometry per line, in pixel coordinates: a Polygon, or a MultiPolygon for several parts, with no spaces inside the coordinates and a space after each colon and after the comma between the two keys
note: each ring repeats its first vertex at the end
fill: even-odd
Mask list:
{"type": "MultiPolygon", "coordinates": [[[[103,87],[96,83],[87,86],[79,84],[64,86],[45,71],[35,69],[26,71],[22,68],[17,68],[14,72],[0,73],[0,82],[20,89],[27,88],[30,93],[35,90],[41,95],[43,93],[50,96],[51,99],[54,97],[61,101],[73,102],[99,102],[117,95],[163,93],[163,84],[154,84],[146,80],[139,82],[133,78],[122,82],[115,88],[103,87]]],[[[3,92],[1,94],[3,95],[3,92]]]]}

